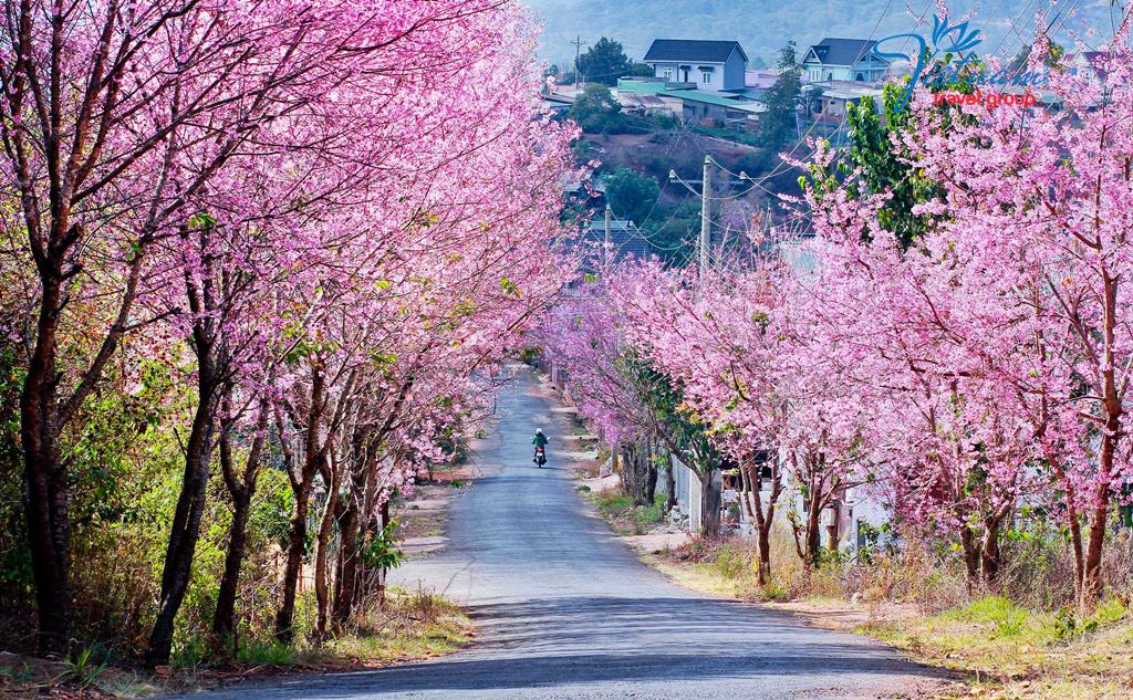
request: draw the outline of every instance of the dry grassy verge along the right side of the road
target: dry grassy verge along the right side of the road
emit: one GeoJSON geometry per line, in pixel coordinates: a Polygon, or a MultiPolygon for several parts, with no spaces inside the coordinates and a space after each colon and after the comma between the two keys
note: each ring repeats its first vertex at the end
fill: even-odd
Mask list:
{"type": "Polygon", "coordinates": [[[917,561],[830,565],[807,575],[793,552],[777,554],[773,581],[763,588],[755,584],[753,552],[742,541],[701,540],[642,561],[707,596],[759,601],[815,626],[874,637],[966,678],[943,698],[1133,697],[1133,615],[1117,597],[1091,618],[1074,620],[1002,596],[972,601],[962,579],[917,561]]]}

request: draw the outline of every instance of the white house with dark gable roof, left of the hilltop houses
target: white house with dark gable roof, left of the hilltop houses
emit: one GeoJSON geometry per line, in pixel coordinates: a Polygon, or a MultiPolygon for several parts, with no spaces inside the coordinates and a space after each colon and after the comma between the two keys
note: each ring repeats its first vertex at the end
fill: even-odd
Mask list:
{"type": "Polygon", "coordinates": [[[658,39],[645,54],[654,77],[707,91],[742,91],[748,54],[739,42],[658,39]]]}

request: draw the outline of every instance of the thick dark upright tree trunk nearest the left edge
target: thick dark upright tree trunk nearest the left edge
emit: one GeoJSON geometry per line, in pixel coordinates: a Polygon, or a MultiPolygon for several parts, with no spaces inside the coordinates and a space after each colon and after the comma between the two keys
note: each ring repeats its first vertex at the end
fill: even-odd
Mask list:
{"type": "Polygon", "coordinates": [[[35,349],[19,396],[24,447],[24,512],[35,580],[39,649],[62,651],[70,640],[70,522],[67,467],[60,459],[56,372],[58,275],[43,275],[35,349]]]}

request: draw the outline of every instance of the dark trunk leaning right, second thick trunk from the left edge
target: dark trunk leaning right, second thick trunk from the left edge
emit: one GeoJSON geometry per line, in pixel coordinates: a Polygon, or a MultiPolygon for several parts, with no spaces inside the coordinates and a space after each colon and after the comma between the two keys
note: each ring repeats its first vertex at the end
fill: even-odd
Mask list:
{"type": "Polygon", "coordinates": [[[208,485],[208,464],[215,430],[216,383],[212,368],[198,364],[197,410],[185,450],[185,476],[177,498],[173,527],[165,547],[165,564],[161,575],[161,599],[157,621],[150,635],[146,661],[151,665],[169,663],[173,646],[173,622],[185,599],[193,572],[193,556],[201,536],[201,518],[205,511],[205,488],[208,485]]]}

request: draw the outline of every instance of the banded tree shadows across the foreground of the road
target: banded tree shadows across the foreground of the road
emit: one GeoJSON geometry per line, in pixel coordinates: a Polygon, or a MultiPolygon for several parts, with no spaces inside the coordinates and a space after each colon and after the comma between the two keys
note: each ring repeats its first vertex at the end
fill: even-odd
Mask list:
{"type": "Polygon", "coordinates": [[[836,689],[842,678],[852,688],[934,675],[868,640],[724,600],[563,597],[478,605],[470,613],[482,621],[482,640],[472,651],[373,672],[307,676],[296,680],[295,690],[301,686],[303,697],[340,698],[744,680],[751,690],[772,681],[778,690],[813,690],[836,689]]]}

